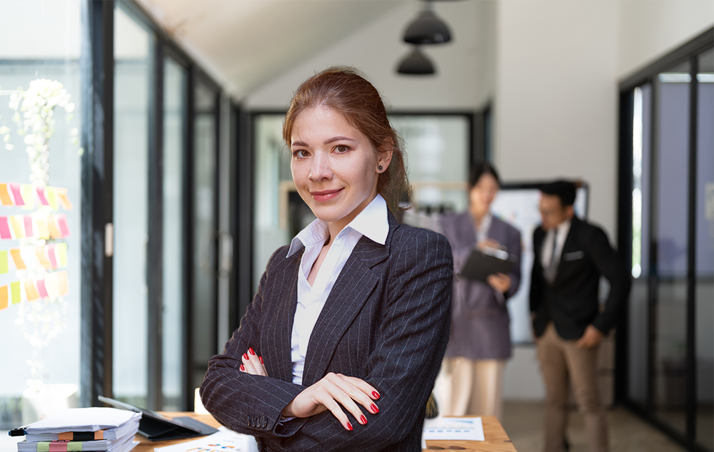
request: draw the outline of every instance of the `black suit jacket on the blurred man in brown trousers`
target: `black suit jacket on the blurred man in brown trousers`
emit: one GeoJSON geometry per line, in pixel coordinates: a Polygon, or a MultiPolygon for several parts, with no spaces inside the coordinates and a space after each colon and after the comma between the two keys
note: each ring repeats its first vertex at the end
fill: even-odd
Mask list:
{"type": "Polygon", "coordinates": [[[550,321],[563,339],[580,338],[588,324],[607,334],[625,307],[630,293],[630,274],[610,246],[605,232],[573,217],[553,284],[548,284],[543,276],[544,240],[545,230],[538,227],[533,232],[531,275],[535,335],[540,337],[550,321]],[[600,275],[610,282],[610,294],[603,312],[600,312],[598,303],[600,275]]]}

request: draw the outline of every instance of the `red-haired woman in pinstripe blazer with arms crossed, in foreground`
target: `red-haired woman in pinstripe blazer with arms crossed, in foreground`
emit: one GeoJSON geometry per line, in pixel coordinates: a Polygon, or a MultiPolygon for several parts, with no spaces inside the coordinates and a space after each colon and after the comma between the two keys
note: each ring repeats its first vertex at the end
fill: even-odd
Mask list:
{"type": "Polygon", "coordinates": [[[355,71],[308,78],[283,138],[317,220],[279,248],[201,400],[263,451],[419,451],[448,341],[453,281],[442,235],[398,224],[403,153],[355,71]]]}

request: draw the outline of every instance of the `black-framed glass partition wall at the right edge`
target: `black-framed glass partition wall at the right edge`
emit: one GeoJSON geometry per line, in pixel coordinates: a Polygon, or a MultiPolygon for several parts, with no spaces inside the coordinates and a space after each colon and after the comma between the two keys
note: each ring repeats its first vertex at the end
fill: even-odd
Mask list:
{"type": "Polygon", "coordinates": [[[633,289],[620,399],[714,451],[714,31],[620,86],[620,249],[633,289]]]}

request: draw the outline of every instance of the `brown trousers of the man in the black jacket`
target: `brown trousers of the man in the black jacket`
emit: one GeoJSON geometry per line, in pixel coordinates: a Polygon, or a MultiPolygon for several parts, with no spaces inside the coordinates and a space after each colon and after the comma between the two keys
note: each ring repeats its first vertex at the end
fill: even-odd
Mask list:
{"type": "Polygon", "coordinates": [[[551,322],[537,339],[545,381],[545,452],[561,452],[568,425],[568,382],[585,420],[591,452],[608,451],[608,424],[598,394],[598,347],[580,349],[558,336],[551,322]]]}

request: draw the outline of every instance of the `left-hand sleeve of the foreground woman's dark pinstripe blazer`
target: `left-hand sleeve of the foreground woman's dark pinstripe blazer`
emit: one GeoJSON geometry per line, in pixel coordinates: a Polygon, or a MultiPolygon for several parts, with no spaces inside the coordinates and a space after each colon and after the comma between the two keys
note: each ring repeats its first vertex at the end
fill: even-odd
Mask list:
{"type": "Polygon", "coordinates": [[[305,389],[291,381],[240,371],[241,356],[248,351],[248,347],[255,347],[260,341],[258,328],[265,302],[263,294],[267,289],[267,275],[273,267],[271,263],[278,254],[279,250],[268,261],[266,272],[258,284],[258,292],[223,354],[208,361],[208,371],[199,390],[203,406],[221,425],[258,437],[273,434],[283,408],[305,389]]]}

